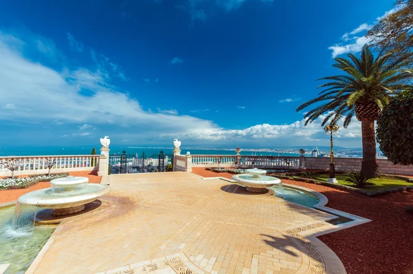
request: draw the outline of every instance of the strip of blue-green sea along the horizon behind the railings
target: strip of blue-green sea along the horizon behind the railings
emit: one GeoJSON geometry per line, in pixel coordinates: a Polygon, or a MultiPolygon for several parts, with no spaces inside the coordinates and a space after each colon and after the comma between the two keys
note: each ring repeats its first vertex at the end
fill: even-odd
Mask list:
{"type": "MultiPolygon", "coordinates": [[[[92,153],[93,146],[79,147],[0,147],[0,156],[60,156],[60,155],[89,155],[92,153]]],[[[100,154],[100,146],[96,147],[96,154],[100,154]]],[[[145,152],[146,156],[159,154],[163,151],[164,154],[173,154],[172,147],[133,147],[133,146],[109,146],[110,154],[122,154],[125,149],[127,154],[142,155],[145,152]]],[[[205,155],[235,155],[235,149],[202,149],[181,147],[181,154],[205,154],[205,155]]],[[[248,149],[241,151],[241,155],[245,156],[299,156],[299,153],[291,151],[260,151],[260,149],[248,149]]]]}

